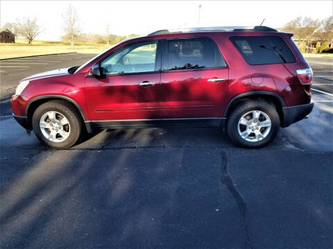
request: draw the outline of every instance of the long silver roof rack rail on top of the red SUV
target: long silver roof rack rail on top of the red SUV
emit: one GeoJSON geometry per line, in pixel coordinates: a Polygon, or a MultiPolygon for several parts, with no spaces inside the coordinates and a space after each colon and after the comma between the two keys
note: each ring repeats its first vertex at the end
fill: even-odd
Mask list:
{"type": "Polygon", "coordinates": [[[269,32],[278,32],[274,28],[269,28],[266,26],[221,26],[221,27],[200,27],[200,28],[180,28],[174,30],[157,30],[148,36],[151,35],[166,35],[172,33],[191,33],[191,32],[216,32],[216,31],[269,31],[269,32]]]}

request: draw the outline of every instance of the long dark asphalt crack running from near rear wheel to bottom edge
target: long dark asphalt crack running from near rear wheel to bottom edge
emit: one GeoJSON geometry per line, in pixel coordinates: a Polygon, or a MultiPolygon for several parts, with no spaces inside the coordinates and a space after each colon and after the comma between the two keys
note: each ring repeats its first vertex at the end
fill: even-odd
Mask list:
{"type": "Polygon", "coordinates": [[[250,235],[249,235],[249,226],[248,226],[248,221],[247,221],[247,205],[246,201],[244,200],[243,196],[239,194],[238,190],[234,187],[234,183],[232,182],[232,178],[228,174],[228,156],[225,153],[225,151],[221,151],[221,158],[222,158],[222,177],[221,177],[221,182],[227,189],[229,190],[230,194],[234,197],[234,200],[237,203],[239,212],[241,213],[241,218],[244,224],[244,230],[246,234],[246,244],[248,245],[248,248],[253,249],[253,244],[250,241],[250,235]]]}

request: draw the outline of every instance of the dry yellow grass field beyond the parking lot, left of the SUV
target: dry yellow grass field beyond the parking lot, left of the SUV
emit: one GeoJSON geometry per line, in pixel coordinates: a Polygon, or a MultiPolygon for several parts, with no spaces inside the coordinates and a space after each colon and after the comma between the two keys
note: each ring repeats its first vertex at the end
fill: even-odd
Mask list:
{"type": "Polygon", "coordinates": [[[74,48],[64,42],[33,41],[27,44],[26,40],[17,39],[15,44],[0,43],[0,59],[24,57],[29,55],[47,55],[53,53],[101,53],[109,47],[103,44],[77,44],[74,48]]]}

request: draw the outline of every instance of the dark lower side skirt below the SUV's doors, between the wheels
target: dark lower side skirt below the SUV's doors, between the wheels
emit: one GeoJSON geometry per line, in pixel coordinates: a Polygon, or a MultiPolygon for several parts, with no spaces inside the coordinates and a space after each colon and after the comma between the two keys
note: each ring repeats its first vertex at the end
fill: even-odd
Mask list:
{"type": "Polygon", "coordinates": [[[152,127],[223,127],[226,118],[166,118],[147,120],[94,120],[85,121],[88,132],[100,129],[131,129],[152,127]]]}

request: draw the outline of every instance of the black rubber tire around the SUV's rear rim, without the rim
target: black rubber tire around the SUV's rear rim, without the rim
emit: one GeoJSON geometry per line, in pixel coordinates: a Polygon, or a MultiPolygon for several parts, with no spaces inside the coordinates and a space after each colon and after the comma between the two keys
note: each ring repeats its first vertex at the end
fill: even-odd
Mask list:
{"type": "MultiPolygon", "coordinates": [[[[227,120],[228,136],[236,145],[247,148],[259,148],[267,145],[275,138],[280,129],[280,117],[276,111],[275,105],[266,100],[244,100],[239,102],[239,105],[232,110],[227,120]],[[262,111],[266,113],[271,120],[271,130],[266,137],[259,141],[248,141],[239,134],[239,120],[242,116],[250,111],[262,111]]],[[[253,134],[253,133],[252,133],[253,134]]],[[[254,135],[254,134],[253,134],[254,135]]]]}

